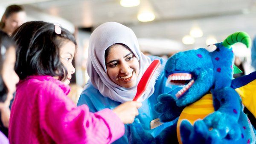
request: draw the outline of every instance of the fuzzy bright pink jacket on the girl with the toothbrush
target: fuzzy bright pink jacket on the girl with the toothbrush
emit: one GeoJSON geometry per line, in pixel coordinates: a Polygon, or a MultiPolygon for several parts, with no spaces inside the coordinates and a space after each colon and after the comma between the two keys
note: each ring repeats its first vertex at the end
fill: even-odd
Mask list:
{"type": "Polygon", "coordinates": [[[17,85],[9,124],[11,144],[107,144],[124,134],[110,109],[92,113],[67,98],[70,87],[51,76],[29,76],[17,85]]]}

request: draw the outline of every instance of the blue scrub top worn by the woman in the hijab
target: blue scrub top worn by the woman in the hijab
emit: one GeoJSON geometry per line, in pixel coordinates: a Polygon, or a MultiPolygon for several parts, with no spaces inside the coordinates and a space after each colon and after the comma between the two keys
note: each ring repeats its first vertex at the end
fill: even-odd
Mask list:
{"type": "MultiPolygon", "coordinates": [[[[163,58],[155,56],[150,56],[150,58],[151,60],[159,59],[161,61],[161,65],[165,66],[166,60],[164,60],[163,58]]],[[[150,129],[150,122],[158,118],[159,116],[159,114],[154,109],[154,105],[157,104],[157,96],[162,93],[170,93],[172,95],[175,95],[177,91],[180,90],[176,89],[177,86],[166,84],[166,80],[167,78],[164,76],[164,72],[162,72],[154,86],[154,93],[148,99],[142,102],[142,107],[138,109],[139,115],[136,116],[136,118],[139,119],[143,129],[146,132],[151,133],[151,135],[153,135],[154,137],[157,136],[164,128],[172,125],[172,122],[167,122],[152,130],[150,129]]],[[[79,106],[82,104],[86,104],[89,107],[90,112],[97,112],[105,108],[114,109],[116,106],[121,104],[120,102],[113,101],[110,98],[103,96],[98,89],[93,87],[90,81],[87,82],[85,88],[86,89],[84,89],[84,91],[80,95],[77,105],[79,106]]],[[[125,135],[113,142],[113,144],[128,144],[128,127],[133,127],[133,125],[126,124],[125,135]]]]}

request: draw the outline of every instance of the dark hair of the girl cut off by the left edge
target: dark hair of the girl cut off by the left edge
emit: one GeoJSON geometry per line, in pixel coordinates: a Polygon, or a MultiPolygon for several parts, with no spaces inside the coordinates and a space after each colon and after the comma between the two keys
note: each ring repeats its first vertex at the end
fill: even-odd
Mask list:
{"type": "Polygon", "coordinates": [[[14,46],[14,41],[11,37],[9,37],[5,32],[0,30],[0,102],[6,101],[8,89],[3,82],[2,78],[2,70],[3,70],[3,63],[6,59],[6,52],[11,47],[14,46]]]}

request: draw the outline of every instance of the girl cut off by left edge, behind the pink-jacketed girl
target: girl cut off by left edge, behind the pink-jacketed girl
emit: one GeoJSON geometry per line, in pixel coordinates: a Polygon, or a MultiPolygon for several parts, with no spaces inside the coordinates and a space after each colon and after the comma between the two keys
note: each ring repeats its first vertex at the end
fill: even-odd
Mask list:
{"type": "MultiPolygon", "coordinates": [[[[0,111],[3,123],[9,125],[9,104],[15,92],[19,77],[14,71],[15,45],[13,40],[0,31],[0,111]]],[[[3,126],[2,126],[3,127],[3,126]]],[[[8,139],[0,132],[0,144],[9,144],[8,139]]]]}

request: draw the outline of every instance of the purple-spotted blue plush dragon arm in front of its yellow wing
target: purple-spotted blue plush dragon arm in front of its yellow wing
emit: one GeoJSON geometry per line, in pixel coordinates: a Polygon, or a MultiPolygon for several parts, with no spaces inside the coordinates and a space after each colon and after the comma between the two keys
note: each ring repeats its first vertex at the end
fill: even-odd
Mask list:
{"type": "Polygon", "coordinates": [[[212,91],[215,112],[204,118],[209,129],[216,129],[221,138],[237,139],[241,136],[238,124],[242,109],[241,99],[230,87],[212,91]]]}

